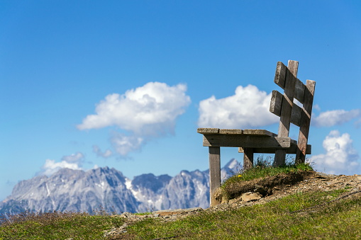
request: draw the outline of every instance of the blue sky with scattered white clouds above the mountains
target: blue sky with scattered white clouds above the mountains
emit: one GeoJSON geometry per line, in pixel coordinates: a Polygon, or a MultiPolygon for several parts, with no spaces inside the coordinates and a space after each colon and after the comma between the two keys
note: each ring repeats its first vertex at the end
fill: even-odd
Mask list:
{"type": "Polygon", "coordinates": [[[197,127],[277,132],[289,59],[316,81],[315,168],[361,173],[360,29],[359,1],[0,1],[0,200],[62,167],[205,170],[197,127]]]}

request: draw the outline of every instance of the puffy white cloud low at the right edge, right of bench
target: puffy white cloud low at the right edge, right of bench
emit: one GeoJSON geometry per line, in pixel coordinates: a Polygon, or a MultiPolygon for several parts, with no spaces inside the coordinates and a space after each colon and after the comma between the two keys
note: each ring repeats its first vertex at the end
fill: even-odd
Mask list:
{"type": "Polygon", "coordinates": [[[337,130],[331,131],[323,140],[326,154],[311,156],[318,171],[333,174],[360,174],[360,156],[352,147],[352,139],[348,133],[340,135],[337,130]]]}

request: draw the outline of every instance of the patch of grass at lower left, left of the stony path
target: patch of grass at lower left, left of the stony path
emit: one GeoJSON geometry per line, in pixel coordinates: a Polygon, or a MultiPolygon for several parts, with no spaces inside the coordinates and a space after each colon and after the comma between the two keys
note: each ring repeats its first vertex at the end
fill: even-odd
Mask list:
{"type": "Polygon", "coordinates": [[[24,212],[0,226],[0,240],[11,239],[101,239],[103,231],[120,227],[124,219],[97,212],[24,212]]]}

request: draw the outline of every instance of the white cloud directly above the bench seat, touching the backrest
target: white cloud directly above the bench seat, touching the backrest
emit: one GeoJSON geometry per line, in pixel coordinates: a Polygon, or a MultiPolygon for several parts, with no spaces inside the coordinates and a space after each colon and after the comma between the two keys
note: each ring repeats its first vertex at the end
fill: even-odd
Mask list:
{"type": "Polygon", "coordinates": [[[216,99],[215,96],[199,103],[199,127],[254,128],[271,125],[279,118],[270,113],[272,93],[256,86],[238,86],[235,95],[216,99]]]}

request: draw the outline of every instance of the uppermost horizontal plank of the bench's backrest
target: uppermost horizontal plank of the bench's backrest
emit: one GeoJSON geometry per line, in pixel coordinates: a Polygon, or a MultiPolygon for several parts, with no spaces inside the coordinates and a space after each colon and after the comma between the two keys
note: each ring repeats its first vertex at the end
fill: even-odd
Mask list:
{"type": "MultiPolygon", "coordinates": [[[[296,61],[293,61],[296,62],[296,61]]],[[[296,98],[300,103],[304,103],[304,91],[306,86],[302,81],[297,79],[296,75],[288,76],[290,81],[295,81],[295,91],[294,98],[296,98]]],[[[284,89],[287,81],[287,67],[282,62],[277,62],[276,74],[274,74],[274,83],[279,87],[284,89]]]]}

